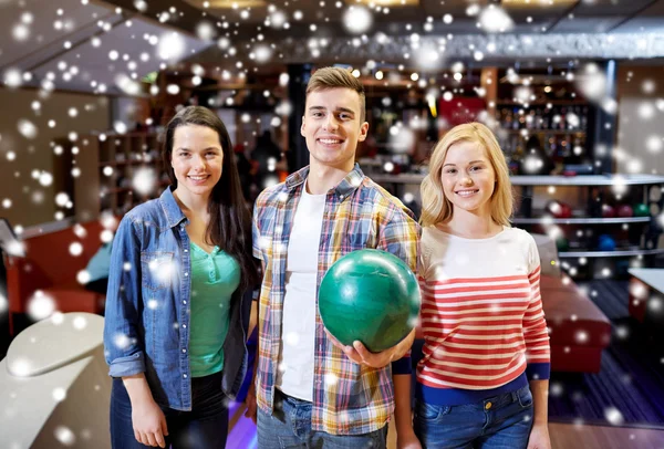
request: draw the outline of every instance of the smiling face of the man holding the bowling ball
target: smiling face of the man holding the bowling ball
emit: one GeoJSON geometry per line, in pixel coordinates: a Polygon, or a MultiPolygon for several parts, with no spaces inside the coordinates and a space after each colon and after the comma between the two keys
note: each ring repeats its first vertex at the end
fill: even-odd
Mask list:
{"type": "Polygon", "coordinates": [[[312,165],[350,171],[357,143],[366,138],[369,123],[360,122],[360,94],[352,88],[314,91],[307,96],[302,128],[312,165]]]}

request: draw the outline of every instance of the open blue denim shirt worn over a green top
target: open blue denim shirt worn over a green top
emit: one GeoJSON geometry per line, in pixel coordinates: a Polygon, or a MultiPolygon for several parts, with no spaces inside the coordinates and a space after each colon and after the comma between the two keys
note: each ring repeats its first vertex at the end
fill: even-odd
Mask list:
{"type": "MultiPolygon", "coordinates": [[[[113,377],[145,373],[159,406],[191,410],[187,218],[170,187],[127,212],[113,240],[104,354],[113,377]]],[[[249,289],[231,299],[221,389],[237,395],[246,370],[249,289]]]]}

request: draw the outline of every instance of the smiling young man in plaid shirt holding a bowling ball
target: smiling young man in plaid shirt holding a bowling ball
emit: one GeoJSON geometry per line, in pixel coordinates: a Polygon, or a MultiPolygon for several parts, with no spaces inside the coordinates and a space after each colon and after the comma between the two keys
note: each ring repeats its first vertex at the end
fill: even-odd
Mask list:
{"type": "Polygon", "coordinates": [[[317,71],[301,128],[310,165],[256,201],[253,254],[264,273],[249,398],[261,448],[384,448],[394,388],[409,382],[414,333],[372,354],[360,342],[339,345],[318,313],[323,275],[351,251],[385,250],[416,269],[418,224],[355,164],[367,130],[360,81],[344,69],[317,71]]]}

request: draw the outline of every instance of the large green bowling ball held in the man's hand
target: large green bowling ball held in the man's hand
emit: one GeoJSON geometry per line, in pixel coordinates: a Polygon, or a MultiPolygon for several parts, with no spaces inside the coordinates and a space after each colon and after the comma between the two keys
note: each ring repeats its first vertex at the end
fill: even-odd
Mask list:
{"type": "Polygon", "coordinates": [[[319,290],[319,311],[342,344],[359,340],[371,352],[401,342],[417,322],[419,285],[408,265],[380,250],[359,250],[339,259],[319,290]]]}

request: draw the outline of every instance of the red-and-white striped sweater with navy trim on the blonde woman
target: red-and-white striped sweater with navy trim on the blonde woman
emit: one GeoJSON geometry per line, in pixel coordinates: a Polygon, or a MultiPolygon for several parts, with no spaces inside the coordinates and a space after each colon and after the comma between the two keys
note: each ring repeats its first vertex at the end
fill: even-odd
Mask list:
{"type": "Polygon", "coordinates": [[[423,230],[419,399],[471,404],[549,378],[539,278],[537,246],[523,230],[488,239],[423,230]]]}

